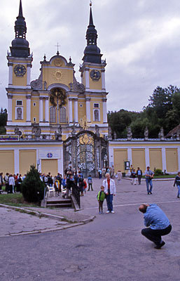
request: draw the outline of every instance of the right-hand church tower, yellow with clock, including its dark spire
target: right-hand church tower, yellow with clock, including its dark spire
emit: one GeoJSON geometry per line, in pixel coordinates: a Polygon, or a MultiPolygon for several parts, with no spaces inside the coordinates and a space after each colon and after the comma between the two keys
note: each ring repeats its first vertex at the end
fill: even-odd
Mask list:
{"type": "Polygon", "coordinates": [[[106,61],[97,46],[97,30],[92,18],[92,4],[90,4],[90,21],[86,32],[87,46],[85,47],[83,64],[80,67],[81,81],[85,86],[85,112],[86,119],[90,122],[93,131],[95,125],[99,126],[102,136],[108,134],[106,115],[106,86],[105,67],[106,61]]]}

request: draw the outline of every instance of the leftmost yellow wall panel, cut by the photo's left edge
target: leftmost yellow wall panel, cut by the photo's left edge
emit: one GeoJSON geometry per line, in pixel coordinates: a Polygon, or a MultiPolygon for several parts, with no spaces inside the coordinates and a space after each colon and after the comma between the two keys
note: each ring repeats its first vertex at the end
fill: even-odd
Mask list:
{"type": "MultiPolygon", "coordinates": [[[[14,174],[14,152],[13,150],[0,150],[0,171],[4,173],[14,174]]],[[[3,175],[3,176],[4,176],[3,175]]]]}

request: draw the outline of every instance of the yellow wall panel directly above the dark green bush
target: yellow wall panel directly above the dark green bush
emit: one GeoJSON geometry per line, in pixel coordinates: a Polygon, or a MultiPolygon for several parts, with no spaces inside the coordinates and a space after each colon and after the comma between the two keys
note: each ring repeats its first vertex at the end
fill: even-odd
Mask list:
{"type": "Polygon", "coordinates": [[[31,165],[36,166],[36,150],[20,150],[20,174],[27,174],[31,165]]]}

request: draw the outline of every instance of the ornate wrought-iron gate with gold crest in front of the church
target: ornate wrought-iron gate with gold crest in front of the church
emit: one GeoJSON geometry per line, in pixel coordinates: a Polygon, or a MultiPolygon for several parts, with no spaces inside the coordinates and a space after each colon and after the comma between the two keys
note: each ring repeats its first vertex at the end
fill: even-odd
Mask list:
{"type": "Polygon", "coordinates": [[[92,131],[80,131],[64,141],[64,169],[80,169],[87,178],[98,176],[98,169],[108,159],[108,141],[92,131]]]}

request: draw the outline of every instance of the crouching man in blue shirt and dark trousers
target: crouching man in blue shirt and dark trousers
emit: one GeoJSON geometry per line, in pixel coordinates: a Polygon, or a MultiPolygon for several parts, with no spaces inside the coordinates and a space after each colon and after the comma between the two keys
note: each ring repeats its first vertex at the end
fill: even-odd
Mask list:
{"type": "Polygon", "coordinates": [[[156,244],[155,249],[160,249],[165,244],[161,236],[169,234],[172,230],[169,219],[156,204],[141,204],[139,211],[144,214],[144,225],[149,226],[142,229],[141,234],[156,244]]]}

